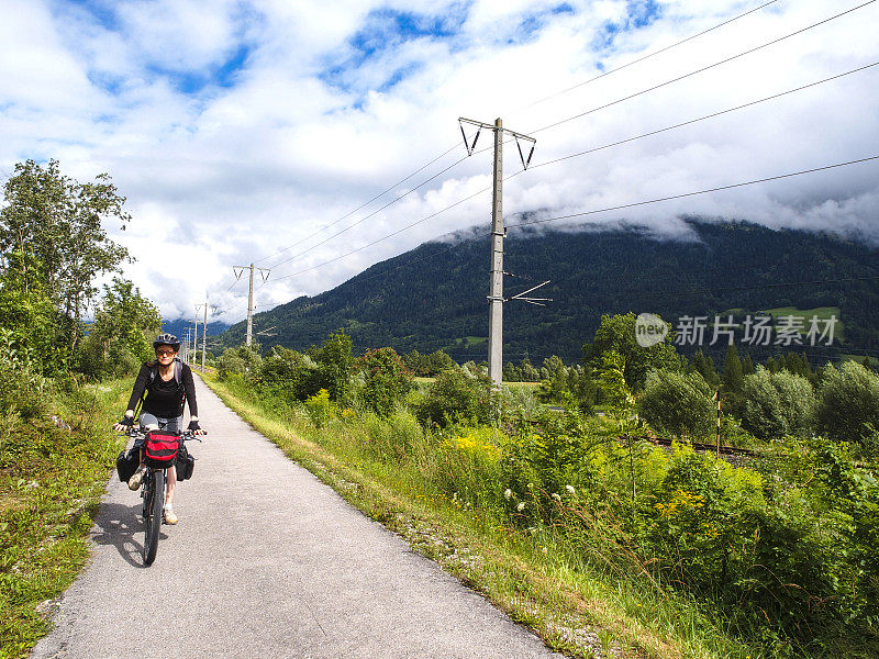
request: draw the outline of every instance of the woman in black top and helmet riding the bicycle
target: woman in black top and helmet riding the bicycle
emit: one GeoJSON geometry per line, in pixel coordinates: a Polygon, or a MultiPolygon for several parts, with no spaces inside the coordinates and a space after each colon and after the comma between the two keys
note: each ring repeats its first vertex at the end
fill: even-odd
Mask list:
{"type": "MultiPolygon", "coordinates": [[[[205,434],[199,427],[199,412],[196,403],[196,384],[192,381],[192,371],[189,366],[177,358],[180,342],[173,334],[160,334],[153,342],[156,350],[155,361],[147,361],[141,367],[134,390],[129,400],[125,416],[113,427],[118,431],[130,428],[134,425],[134,409],[137,401],[146,392],[143,409],[141,410],[141,428],[144,431],[168,431],[179,433],[183,425],[183,402],[189,401],[189,431],[194,435],[205,434]]],[[[141,466],[129,479],[129,488],[137,490],[144,478],[144,454],[141,449],[141,466]]],[[[170,467],[167,470],[167,490],[165,495],[165,523],[177,524],[174,514],[174,490],[177,484],[177,470],[170,467]]]]}

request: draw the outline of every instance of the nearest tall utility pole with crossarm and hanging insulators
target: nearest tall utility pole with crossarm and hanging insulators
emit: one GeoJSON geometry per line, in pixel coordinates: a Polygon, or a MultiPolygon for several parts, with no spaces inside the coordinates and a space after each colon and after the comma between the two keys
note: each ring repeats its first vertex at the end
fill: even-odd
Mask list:
{"type": "Polygon", "coordinates": [[[467,155],[472,155],[476,148],[476,141],[482,129],[491,129],[494,132],[494,183],[491,194],[491,261],[490,261],[490,288],[489,288],[489,313],[488,313],[488,375],[500,387],[503,380],[503,238],[507,230],[503,227],[503,135],[508,133],[515,139],[519,148],[519,156],[522,166],[527,169],[531,156],[534,155],[535,139],[521,133],[504,130],[500,119],[494,120],[494,124],[487,124],[470,119],[459,118],[460,132],[464,136],[464,145],[467,147],[467,155]],[[476,136],[472,144],[467,139],[464,132],[464,124],[477,126],[476,136]],[[519,141],[531,143],[531,153],[525,158],[519,141]]]}

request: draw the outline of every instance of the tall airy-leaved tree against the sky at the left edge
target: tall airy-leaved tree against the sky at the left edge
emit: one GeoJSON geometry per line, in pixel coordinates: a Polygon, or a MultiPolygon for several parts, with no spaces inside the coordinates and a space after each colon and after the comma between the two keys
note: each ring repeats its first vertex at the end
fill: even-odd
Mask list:
{"type": "Polygon", "coordinates": [[[124,230],[131,215],[110,176],[80,183],[62,175],[57,160],[44,167],[34,160],[15,165],[3,187],[7,205],[0,210],[0,253],[18,249],[35,257],[35,267],[21,261],[25,290],[36,279],[55,305],[76,323],[69,345],[89,300],[98,292],[97,276],[118,270],[127,249],[107,236],[103,221],[115,219],[124,230]]]}

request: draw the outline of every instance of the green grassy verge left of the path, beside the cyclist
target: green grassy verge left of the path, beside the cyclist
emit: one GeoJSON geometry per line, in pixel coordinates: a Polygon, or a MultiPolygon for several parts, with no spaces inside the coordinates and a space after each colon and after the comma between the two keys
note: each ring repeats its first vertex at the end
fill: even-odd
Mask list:
{"type": "Polygon", "coordinates": [[[88,532],[121,444],[110,424],[130,386],[49,394],[32,420],[0,414],[2,659],[27,657],[48,630],[53,601],[88,558],[88,532]]]}

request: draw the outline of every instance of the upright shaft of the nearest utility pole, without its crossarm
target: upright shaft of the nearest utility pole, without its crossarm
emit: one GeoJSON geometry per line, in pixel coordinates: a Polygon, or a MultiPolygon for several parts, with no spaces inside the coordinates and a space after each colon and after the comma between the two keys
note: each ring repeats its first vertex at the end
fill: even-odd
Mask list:
{"type": "Polygon", "coordinates": [[[488,375],[503,380],[503,122],[494,120],[494,185],[491,194],[491,272],[488,312],[488,375]]]}

